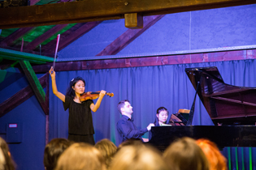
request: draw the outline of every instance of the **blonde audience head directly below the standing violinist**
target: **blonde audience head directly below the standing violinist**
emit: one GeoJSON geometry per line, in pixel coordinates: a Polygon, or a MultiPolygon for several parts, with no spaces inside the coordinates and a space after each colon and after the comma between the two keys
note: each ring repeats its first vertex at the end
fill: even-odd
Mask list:
{"type": "Polygon", "coordinates": [[[55,170],[106,170],[104,158],[92,145],[74,143],[60,155],[55,170]]]}

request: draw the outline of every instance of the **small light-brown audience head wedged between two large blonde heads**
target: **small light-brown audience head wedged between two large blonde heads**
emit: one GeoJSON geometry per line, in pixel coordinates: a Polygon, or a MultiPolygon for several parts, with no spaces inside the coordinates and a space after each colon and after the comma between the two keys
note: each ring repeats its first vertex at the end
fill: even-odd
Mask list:
{"type": "Polygon", "coordinates": [[[116,153],[117,147],[107,138],[104,138],[101,141],[97,142],[94,147],[96,147],[98,151],[101,152],[102,156],[105,159],[106,168],[108,169],[116,153]]]}

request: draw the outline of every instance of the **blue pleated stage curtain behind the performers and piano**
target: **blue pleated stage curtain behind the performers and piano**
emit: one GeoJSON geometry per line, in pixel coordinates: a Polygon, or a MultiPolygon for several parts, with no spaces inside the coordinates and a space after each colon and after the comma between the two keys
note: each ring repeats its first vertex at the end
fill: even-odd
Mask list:
{"type": "MultiPolygon", "coordinates": [[[[195,89],[185,73],[185,68],[217,66],[225,83],[241,87],[256,87],[256,64],[254,60],[206,62],[169,66],[144,66],[119,69],[78,70],[56,73],[57,87],[65,94],[68,83],[76,76],[85,79],[85,91],[106,90],[114,97],[105,96],[96,113],[93,113],[95,142],[109,138],[119,145],[115,128],[121,117],[116,106],[120,100],[130,100],[133,118],[138,128],[145,128],[154,122],[158,107],[164,106],[169,113],[176,113],[179,108],[191,108],[195,89]]],[[[50,80],[51,83],[51,80],[50,80]]],[[[97,100],[94,100],[94,103],[97,100]]],[[[62,101],[52,93],[50,87],[50,139],[67,138],[68,111],[63,110],[62,101]]],[[[193,125],[213,125],[206,109],[197,97],[193,125]]],[[[148,133],[144,138],[148,137],[148,133]]],[[[236,169],[236,153],[231,152],[232,169],[236,169]]],[[[241,149],[238,153],[241,152],[241,149]]],[[[252,149],[256,159],[255,148],[252,149]]],[[[228,151],[223,150],[228,158],[228,151]]],[[[243,150],[244,159],[249,159],[248,148],[243,150]]],[[[238,156],[241,158],[241,155],[238,156]]],[[[244,160],[245,169],[249,169],[249,160],[244,160]]],[[[238,165],[242,166],[241,164],[238,165]]],[[[255,161],[253,163],[255,169],[255,161]]],[[[240,169],[240,168],[239,168],[240,169]]]]}

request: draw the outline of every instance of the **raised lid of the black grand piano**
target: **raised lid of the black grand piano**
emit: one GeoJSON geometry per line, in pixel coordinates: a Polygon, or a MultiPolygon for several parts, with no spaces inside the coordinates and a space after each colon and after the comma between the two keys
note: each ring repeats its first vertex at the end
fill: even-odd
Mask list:
{"type": "Polygon", "coordinates": [[[215,125],[255,125],[256,88],[224,83],[217,67],[185,71],[215,125]]]}

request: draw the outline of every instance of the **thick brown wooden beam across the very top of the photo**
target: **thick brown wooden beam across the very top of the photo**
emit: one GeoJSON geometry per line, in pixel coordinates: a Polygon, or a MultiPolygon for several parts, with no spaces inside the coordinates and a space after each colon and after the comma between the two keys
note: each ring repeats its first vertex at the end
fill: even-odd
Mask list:
{"type": "Polygon", "coordinates": [[[227,6],[254,4],[255,0],[84,0],[41,6],[2,8],[0,29],[35,27],[63,23],[124,19],[124,14],[164,15],[227,6]]]}

